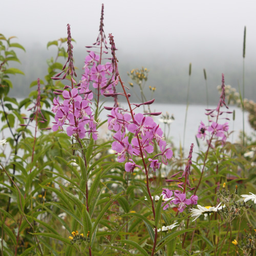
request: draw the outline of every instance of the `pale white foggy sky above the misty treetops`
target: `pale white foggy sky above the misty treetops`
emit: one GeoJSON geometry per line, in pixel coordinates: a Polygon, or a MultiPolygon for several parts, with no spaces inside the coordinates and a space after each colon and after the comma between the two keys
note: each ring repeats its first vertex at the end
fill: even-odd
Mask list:
{"type": "Polygon", "coordinates": [[[228,46],[242,51],[247,27],[248,47],[256,46],[256,2],[238,0],[11,0],[1,1],[0,33],[16,35],[19,42],[66,36],[71,25],[77,46],[90,45],[98,34],[101,4],[104,28],[112,33],[118,48],[128,51],[216,51],[228,46]]]}

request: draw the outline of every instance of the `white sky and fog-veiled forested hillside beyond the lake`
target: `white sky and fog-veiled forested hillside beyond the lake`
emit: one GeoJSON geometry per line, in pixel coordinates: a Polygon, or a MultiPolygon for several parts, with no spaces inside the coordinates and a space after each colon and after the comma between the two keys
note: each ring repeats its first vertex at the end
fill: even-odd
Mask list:
{"type": "MultiPolygon", "coordinates": [[[[256,95],[256,16],[254,1],[152,0],[80,1],[12,0],[1,2],[0,33],[17,36],[26,53],[17,49],[22,65],[13,63],[25,76],[10,76],[10,95],[24,97],[37,77],[47,74],[47,59],[56,56],[56,47],[47,42],[67,37],[71,25],[73,54],[78,80],[87,55],[84,46],[92,45],[98,36],[101,4],[104,4],[104,31],[115,39],[119,73],[130,82],[127,72],[150,70],[148,86],[156,87],[156,102],[185,103],[188,68],[192,65],[189,102],[206,104],[203,69],[207,73],[209,103],[216,104],[221,84],[238,90],[243,78],[243,34],[246,26],[245,97],[256,95]]],[[[135,98],[134,98],[135,99],[135,98]]],[[[135,99],[136,100],[136,99],[135,99]]]]}

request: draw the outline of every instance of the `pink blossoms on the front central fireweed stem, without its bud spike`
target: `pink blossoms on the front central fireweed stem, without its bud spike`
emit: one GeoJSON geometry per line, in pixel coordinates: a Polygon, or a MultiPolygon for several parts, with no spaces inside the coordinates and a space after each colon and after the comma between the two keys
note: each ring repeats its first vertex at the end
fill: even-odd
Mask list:
{"type": "Polygon", "coordinates": [[[118,162],[128,159],[125,163],[126,172],[133,172],[136,166],[140,167],[133,161],[133,156],[147,157],[147,154],[153,153],[155,143],[159,146],[161,153],[149,158],[147,164],[154,171],[160,167],[161,163],[167,164],[167,159],[172,158],[173,151],[167,147],[161,128],[151,116],[138,113],[133,119],[130,113],[120,108],[108,109],[111,110],[111,114],[108,115],[109,130],[115,132],[112,149],[117,152],[118,162]],[[156,159],[157,156],[161,156],[161,162],[156,159]]]}

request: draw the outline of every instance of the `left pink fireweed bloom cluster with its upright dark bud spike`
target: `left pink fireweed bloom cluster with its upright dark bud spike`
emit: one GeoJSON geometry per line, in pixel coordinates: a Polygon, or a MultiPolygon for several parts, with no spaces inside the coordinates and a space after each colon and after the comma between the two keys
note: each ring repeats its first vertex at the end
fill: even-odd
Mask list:
{"type": "MultiPolygon", "coordinates": [[[[62,95],[63,102],[59,101],[59,96],[53,99],[52,112],[56,113],[55,122],[53,122],[53,131],[58,129],[63,130],[63,125],[68,125],[68,136],[77,136],[80,139],[84,138],[86,134],[97,139],[96,122],[94,121],[93,112],[91,110],[91,99],[93,98],[92,91],[89,90],[87,83],[78,83],[74,80],[73,76],[76,76],[75,68],[73,65],[73,46],[70,33],[70,25],[68,24],[68,60],[64,65],[62,72],[57,74],[52,79],[54,80],[69,80],[70,86],[65,86],[64,90],[55,90],[55,95],[62,95]],[[68,68],[66,69],[66,66],[68,68]],[[62,73],[64,75],[59,77],[62,73]],[[67,76],[70,75],[70,78],[67,76]],[[65,90],[67,89],[67,90],[65,90]],[[87,129],[85,128],[87,127],[87,129]]],[[[87,57],[88,61],[92,61],[94,55],[87,57]]],[[[96,57],[95,57],[96,58],[96,57]]],[[[97,76],[96,71],[94,76],[97,76]]]]}

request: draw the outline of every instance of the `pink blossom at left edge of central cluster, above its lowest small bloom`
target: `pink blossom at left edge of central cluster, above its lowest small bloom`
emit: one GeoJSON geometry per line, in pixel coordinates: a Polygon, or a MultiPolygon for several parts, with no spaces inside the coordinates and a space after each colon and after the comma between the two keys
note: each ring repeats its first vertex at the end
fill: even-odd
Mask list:
{"type": "Polygon", "coordinates": [[[113,138],[115,141],[112,143],[112,150],[117,152],[117,161],[123,162],[126,155],[133,155],[133,147],[128,141],[128,137],[124,137],[125,133],[117,132],[113,138]]]}

